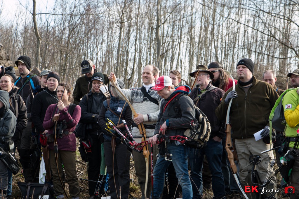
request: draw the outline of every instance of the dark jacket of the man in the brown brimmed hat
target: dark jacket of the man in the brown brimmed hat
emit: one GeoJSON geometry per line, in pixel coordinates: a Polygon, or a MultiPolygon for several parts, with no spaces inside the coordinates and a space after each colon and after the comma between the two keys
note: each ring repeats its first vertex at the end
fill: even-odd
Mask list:
{"type": "MultiPolygon", "coordinates": [[[[205,113],[210,121],[212,128],[210,138],[213,138],[215,135],[217,135],[219,138],[224,138],[225,132],[224,129],[221,129],[222,122],[216,117],[215,109],[220,104],[225,92],[217,87],[214,87],[213,85],[211,85],[210,89],[211,88],[213,88],[213,90],[207,90],[204,92],[198,102],[196,100],[194,104],[197,102],[195,105],[205,113]]],[[[199,89],[193,88],[190,93],[190,98],[194,100],[199,94],[201,94],[199,89]]]]}

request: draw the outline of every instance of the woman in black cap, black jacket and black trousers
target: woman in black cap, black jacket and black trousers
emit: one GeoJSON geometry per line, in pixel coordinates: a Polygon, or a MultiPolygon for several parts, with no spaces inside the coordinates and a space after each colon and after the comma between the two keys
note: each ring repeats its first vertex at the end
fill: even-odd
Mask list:
{"type": "MultiPolygon", "coordinates": [[[[83,96],[79,106],[81,107],[80,122],[86,125],[85,138],[83,138],[83,146],[86,149],[88,158],[88,179],[89,179],[89,195],[90,199],[95,198],[95,190],[98,188],[98,181],[100,177],[100,166],[102,160],[102,147],[100,135],[103,134],[101,127],[97,124],[103,101],[107,98],[100,91],[103,86],[104,76],[100,72],[94,73],[91,77],[92,88],[90,92],[83,96]]],[[[102,136],[101,136],[102,137],[102,136]]],[[[102,187],[100,188],[102,194],[102,187]]]]}

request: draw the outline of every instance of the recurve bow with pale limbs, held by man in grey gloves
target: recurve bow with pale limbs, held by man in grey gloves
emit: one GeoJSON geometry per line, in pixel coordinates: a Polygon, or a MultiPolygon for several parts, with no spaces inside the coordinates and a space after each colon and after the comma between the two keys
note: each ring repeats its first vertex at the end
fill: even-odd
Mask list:
{"type": "MultiPolygon", "coordinates": [[[[233,76],[231,76],[231,79],[233,80],[233,90],[235,90],[235,81],[234,81],[233,76]]],[[[231,99],[229,101],[228,109],[227,109],[227,112],[226,112],[226,120],[225,120],[226,142],[225,142],[225,149],[226,149],[226,152],[227,152],[228,161],[229,161],[229,163],[231,165],[231,171],[234,174],[235,181],[236,181],[237,185],[239,186],[239,189],[242,192],[242,194],[244,195],[244,197],[246,199],[248,199],[246,193],[244,192],[244,190],[242,188],[241,183],[239,182],[239,180],[237,178],[237,172],[238,172],[238,170],[237,170],[237,166],[236,166],[236,164],[234,162],[234,158],[237,160],[237,153],[234,150],[234,147],[233,147],[233,144],[232,144],[232,139],[231,139],[231,125],[229,124],[229,113],[230,113],[230,110],[231,110],[231,103],[232,103],[232,101],[233,101],[233,99],[231,99]]]]}

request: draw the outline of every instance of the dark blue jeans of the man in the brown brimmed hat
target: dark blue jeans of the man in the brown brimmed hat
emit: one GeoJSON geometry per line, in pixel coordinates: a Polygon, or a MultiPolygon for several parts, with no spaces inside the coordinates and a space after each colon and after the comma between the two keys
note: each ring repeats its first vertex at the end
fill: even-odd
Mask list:
{"type": "Polygon", "coordinates": [[[225,198],[225,186],[221,169],[222,142],[214,141],[212,138],[207,142],[207,146],[202,149],[190,148],[189,160],[191,167],[193,199],[202,198],[202,164],[204,154],[209,163],[212,174],[213,198],[225,198]],[[197,188],[196,188],[197,187],[197,188]]]}

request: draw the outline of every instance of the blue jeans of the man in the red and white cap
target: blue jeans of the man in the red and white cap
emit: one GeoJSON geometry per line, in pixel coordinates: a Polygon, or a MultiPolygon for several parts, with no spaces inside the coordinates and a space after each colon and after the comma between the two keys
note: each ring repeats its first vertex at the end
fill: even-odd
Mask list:
{"type": "MultiPolygon", "coordinates": [[[[167,144],[167,150],[172,154],[172,163],[176,171],[176,177],[182,187],[183,199],[192,199],[192,186],[188,174],[187,155],[189,147],[185,145],[176,146],[172,142],[167,144]]],[[[164,176],[170,161],[159,155],[154,168],[154,198],[160,198],[163,191],[164,176]]]]}

